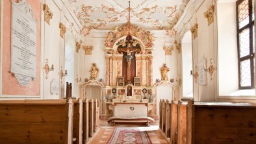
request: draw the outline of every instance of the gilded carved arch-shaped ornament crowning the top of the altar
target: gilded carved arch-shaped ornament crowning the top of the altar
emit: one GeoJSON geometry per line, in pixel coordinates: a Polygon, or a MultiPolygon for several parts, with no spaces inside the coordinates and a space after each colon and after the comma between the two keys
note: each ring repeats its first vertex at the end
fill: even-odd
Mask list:
{"type": "Polygon", "coordinates": [[[136,38],[139,38],[144,43],[146,48],[153,46],[153,41],[155,40],[155,37],[149,31],[142,30],[142,28],[136,27],[129,22],[125,25],[122,25],[121,27],[116,27],[115,30],[109,32],[105,40],[105,46],[113,47],[116,40],[122,38],[123,36],[127,36],[129,32],[132,36],[136,36],[136,38]]]}

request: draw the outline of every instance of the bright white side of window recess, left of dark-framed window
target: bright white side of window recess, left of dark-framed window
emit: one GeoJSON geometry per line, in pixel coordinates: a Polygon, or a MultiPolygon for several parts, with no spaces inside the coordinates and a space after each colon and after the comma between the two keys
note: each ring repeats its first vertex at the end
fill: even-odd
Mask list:
{"type": "Polygon", "coordinates": [[[218,3],[219,94],[238,90],[236,3],[218,3]]]}

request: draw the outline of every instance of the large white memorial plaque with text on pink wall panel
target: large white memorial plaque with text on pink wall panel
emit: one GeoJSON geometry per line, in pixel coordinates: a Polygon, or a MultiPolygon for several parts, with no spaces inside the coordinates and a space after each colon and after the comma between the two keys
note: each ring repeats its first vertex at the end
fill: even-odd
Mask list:
{"type": "Polygon", "coordinates": [[[36,25],[31,6],[12,1],[10,72],[22,86],[36,78],[36,25]]]}

